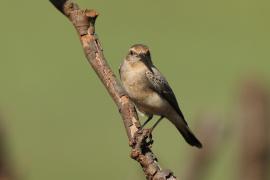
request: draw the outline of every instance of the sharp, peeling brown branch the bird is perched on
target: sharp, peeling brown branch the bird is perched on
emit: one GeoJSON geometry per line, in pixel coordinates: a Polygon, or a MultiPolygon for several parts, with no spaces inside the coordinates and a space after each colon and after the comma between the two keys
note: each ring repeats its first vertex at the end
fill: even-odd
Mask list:
{"type": "Polygon", "coordinates": [[[150,148],[153,141],[149,130],[145,129],[137,133],[140,122],[135,107],[109,67],[95,34],[98,13],[95,10],[80,9],[77,4],[69,0],[50,0],[50,2],[74,25],[88,62],[117,105],[132,148],[131,157],[140,163],[149,180],[176,179],[171,171],[162,170],[159,166],[150,148]]]}

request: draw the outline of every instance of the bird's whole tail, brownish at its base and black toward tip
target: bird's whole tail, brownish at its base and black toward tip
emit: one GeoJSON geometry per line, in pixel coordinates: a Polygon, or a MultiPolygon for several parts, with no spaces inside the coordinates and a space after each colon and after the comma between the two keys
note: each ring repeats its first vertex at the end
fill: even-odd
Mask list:
{"type": "Polygon", "coordinates": [[[172,123],[176,126],[176,128],[188,144],[190,144],[191,146],[196,146],[197,148],[202,148],[202,143],[192,133],[184,120],[182,120],[181,118],[177,118],[177,120],[172,123]]]}

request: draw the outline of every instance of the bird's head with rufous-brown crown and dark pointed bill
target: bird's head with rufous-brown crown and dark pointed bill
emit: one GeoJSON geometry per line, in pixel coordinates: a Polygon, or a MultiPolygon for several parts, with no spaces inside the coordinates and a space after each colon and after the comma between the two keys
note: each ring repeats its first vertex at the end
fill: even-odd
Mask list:
{"type": "Polygon", "coordinates": [[[126,60],[132,64],[144,63],[150,69],[151,66],[153,65],[150,50],[147,46],[143,44],[135,44],[131,46],[126,60]]]}

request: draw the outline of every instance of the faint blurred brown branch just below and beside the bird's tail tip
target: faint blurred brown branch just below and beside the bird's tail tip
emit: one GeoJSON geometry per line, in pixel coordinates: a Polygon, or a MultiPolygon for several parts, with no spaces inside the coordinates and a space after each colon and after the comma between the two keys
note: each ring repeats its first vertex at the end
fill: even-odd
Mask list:
{"type": "Polygon", "coordinates": [[[191,160],[187,164],[185,179],[202,179],[209,171],[218,153],[218,148],[224,142],[224,124],[221,118],[214,112],[204,111],[199,114],[198,134],[207,148],[194,151],[191,160]]]}

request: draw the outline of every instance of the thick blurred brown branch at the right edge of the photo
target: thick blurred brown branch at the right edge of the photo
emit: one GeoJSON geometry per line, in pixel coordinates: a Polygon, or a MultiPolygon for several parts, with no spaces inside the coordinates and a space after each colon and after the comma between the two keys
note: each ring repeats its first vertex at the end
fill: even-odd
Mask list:
{"type": "Polygon", "coordinates": [[[269,179],[269,94],[258,79],[244,82],[239,108],[239,179],[269,179]]]}

